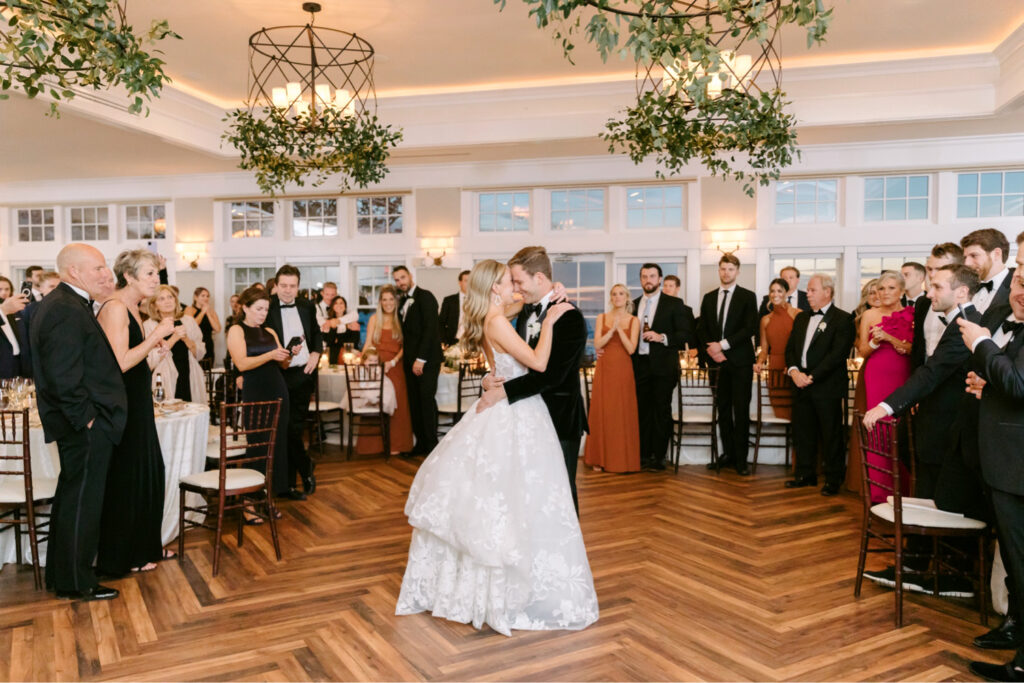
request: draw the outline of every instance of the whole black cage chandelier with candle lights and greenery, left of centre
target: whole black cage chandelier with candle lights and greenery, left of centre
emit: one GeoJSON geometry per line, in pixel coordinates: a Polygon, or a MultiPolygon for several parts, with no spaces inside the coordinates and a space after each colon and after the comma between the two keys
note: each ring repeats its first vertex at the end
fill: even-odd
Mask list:
{"type": "Polygon", "coordinates": [[[377,119],[374,48],[355,34],[314,26],[318,3],[302,9],[310,15],[305,26],[250,36],[246,108],[228,113],[222,138],[269,195],[335,175],[342,191],[379,182],[401,131],[377,119]]]}

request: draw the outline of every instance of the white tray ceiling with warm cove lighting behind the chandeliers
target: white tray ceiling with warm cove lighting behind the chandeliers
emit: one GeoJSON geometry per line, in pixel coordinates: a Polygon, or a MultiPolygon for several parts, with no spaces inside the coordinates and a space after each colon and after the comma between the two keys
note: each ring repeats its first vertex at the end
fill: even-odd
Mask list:
{"type": "MultiPolygon", "coordinates": [[[[321,1],[324,11],[317,24],[358,33],[376,50],[378,94],[387,101],[388,114],[394,112],[407,128],[407,144],[393,156],[396,164],[604,154],[606,147],[596,133],[608,112],[618,106],[607,102],[621,100],[624,93],[628,97],[632,88],[585,85],[632,81],[633,68],[618,59],[602,63],[582,38],[577,65],[569,65],[550,33],[536,28],[520,0],[507,0],[504,11],[492,0],[321,1]],[[601,98],[607,100],[605,109],[595,109],[593,102],[601,98]],[[578,112],[570,111],[574,106],[578,112]],[[504,118],[496,114],[503,108],[504,118]],[[556,114],[563,119],[579,114],[579,118],[547,124],[544,117],[556,114]],[[520,127],[518,137],[494,134],[515,125],[520,127]],[[541,134],[528,136],[545,127],[547,139],[541,134]],[[509,142],[513,139],[519,141],[509,142]]],[[[796,103],[799,109],[804,98],[803,111],[811,115],[804,119],[810,127],[803,129],[802,142],[920,137],[929,131],[970,135],[1024,130],[1024,117],[1013,116],[1005,106],[1010,95],[1024,92],[1024,69],[1019,83],[1012,79],[1002,83],[1001,62],[992,56],[1024,25],[1021,0],[833,0],[831,4],[835,18],[825,44],[808,50],[803,30],[783,35],[783,63],[791,74],[800,74],[790,82],[799,95],[796,103]],[[922,80],[916,71],[897,77],[889,65],[918,57],[930,65],[926,71],[935,74],[933,81],[949,90],[947,95],[933,88],[937,102],[973,98],[975,106],[950,105],[937,115],[943,122],[915,124],[928,118],[922,112],[938,108],[914,91],[922,80]],[[959,71],[944,71],[950,59],[958,59],[954,67],[959,71]],[[878,67],[879,76],[865,78],[864,69],[851,67],[871,63],[883,65],[878,67]],[[818,74],[817,66],[831,70],[821,87],[819,81],[804,77],[818,74]],[[851,68],[856,78],[838,76],[853,73],[851,68]],[[908,106],[910,114],[902,119],[873,122],[882,126],[850,126],[842,116],[814,119],[818,111],[814,108],[821,104],[810,95],[830,88],[819,100],[828,99],[833,111],[842,113],[844,108],[835,103],[841,101],[840,94],[860,98],[861,104],[871,101],[871,88],[881,78],[891,81],[890,94],[902,94],[918,109],[908,106]],[[991,93],[991,102],[968,89],[982,81],[989,90],[979,92],[985,97],[991,93]],[[1001,100],[1000,88],[1010,89],[1001,100]]],[[[153,103],[154,116],[148,119],[125,117],[109,105],[68,104],[61,119],[53,120],[44,116],[48,108],[44,102],[17,96],[0,101],[0,159],[7,162],[0,164],[0,182],[236,169],[236,161],[225,156],[229,151],[218,148],[217,137],[223,110],[238,105],[247,90],[248,38],[264,26],[304,23],[308,15],[300,5],[300,0],[131,0],[129,17],[137,30],[162,17],[182,36],[160,45],[173,89],[166,91],[163,101],[153,103]],[[175,126],[180,129],[176,133],[175,126]]],[[[1024,39],[1014,45],[1019,48],[1024,39]]],[[[884,113],[887,105],[883,102],[877,109],[884,113]]],[[[869,116],[858,116],[871,123],[869,116]]]]}

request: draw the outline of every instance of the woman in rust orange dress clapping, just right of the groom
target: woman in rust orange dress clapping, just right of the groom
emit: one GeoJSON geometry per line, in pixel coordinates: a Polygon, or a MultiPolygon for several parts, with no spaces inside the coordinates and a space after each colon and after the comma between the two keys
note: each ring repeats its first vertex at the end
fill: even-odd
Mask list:
{"type": "Polygon", "coordinates": [[[611,288],[611,310],[597,316],[594,347],[604,349],[594,369],[590,434],[584,462],[595,470],[640,471],[640,425],[632,354],[640,339],[640,321],[625,285],[611,288]]]}

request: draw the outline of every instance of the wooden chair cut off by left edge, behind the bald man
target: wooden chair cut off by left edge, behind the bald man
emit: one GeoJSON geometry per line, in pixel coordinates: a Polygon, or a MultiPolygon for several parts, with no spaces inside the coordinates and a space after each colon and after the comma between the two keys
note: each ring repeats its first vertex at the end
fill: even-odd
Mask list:
{"type": "Polygon", "coordinates": [[[29,537],[37,591],[43,587],[39,543],[49,536],[49,514],[36,508],[50,503],[56,489],[55,478],[32,476],[28,409],[0,411],[0,533],[13,530],[18,563],[24,557],[22,537],[29,537]]]}

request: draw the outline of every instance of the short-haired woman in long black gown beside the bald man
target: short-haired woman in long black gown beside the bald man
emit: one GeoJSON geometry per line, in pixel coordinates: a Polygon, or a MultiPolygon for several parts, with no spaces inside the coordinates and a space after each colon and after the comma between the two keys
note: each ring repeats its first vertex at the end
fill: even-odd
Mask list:
{"type": "Polygon", "coordinates": [[[146,356],[174,331],[174,321],[161,321],[150,336],[142,334],[138,302],[160,285],[157,257],[144,249],[122,252],[114,262],[117,292],[97,316],[124,376],[128,420],[121,443],[114,447],[99,525],[96,568],[120,577],[156,569],[173,557],[160,538],[164,513],[164,457],[157,438],[153,392],[146,356]]]}

